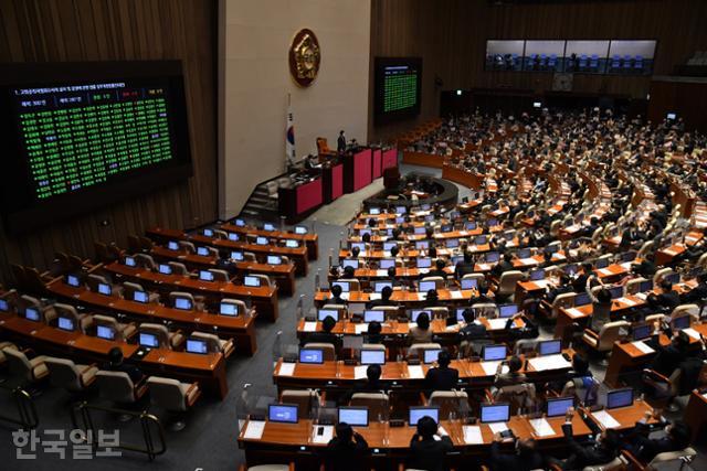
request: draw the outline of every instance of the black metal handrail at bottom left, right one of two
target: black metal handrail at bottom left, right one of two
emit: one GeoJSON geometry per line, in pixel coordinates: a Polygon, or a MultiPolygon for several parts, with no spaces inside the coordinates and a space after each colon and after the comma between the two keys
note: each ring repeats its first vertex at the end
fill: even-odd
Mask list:
{"type": "Polygon", "coordinates": [[[84,441],[88,443],[91,440],[91,445],[94,448],[96,448],[98,443],[93,440],[93,437],[95,437],[95,433],[94,433],[95,427],[93,424],[93,417],[91,415],[92,410],[101,410],[101,411],[110,413],[110,414],[129,415],[133,417],[138,417],[140,419],[140,428],[143,429],[143,439],[145,440],[145,446],[141,447],[139,445],[133,445],[133,443],[119,443],[118,446],[113,448],[127,450],[127,451],[135,451],[138,453],[145,453],[147,454],[150,461],[154,461],[156,457],[163,454],[167,451],[167,443],[165,442],[165,429],[162,428],[162,424],[159,421],[159,419],[156,416],[154,416],[152,414],[148,414],[147,410],[136,411],[136,410],[127,410],[127,409],[117,409],[113,407],[96,406],[96,405],[88,404],[85,400],[81,403],[76,403],[71,408],[72,426],[74,429],[84,431],[84,438],[83,438],[84,441]],[[83,428],[80,428],[77,415],[81,416],[83,428]],[[159,448],[157,449],[155,448],[156,443],[155,443],[155,439],[152,438],[152,433],[150,433],[150,422],[157,426],[157,432],[158,432],[157,438],[159,439],[159,442],[157,443],[159,445],[159,448]]]}

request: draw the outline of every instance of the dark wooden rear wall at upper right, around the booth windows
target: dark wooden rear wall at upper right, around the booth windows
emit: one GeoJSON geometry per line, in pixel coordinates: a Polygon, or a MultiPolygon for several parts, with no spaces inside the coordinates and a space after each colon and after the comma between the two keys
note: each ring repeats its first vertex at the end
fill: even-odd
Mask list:
{"type": "MultiPolygon", "coordinates": [[[[369,121],[369,140],[384,138],[439,113],[439,92],[455,88],[551,89],[551,73],[485,72],[487,39],[657,39],[656,75],[669,75],[697,50],[707,49],[707,2],[616,0],[492,6],[486,0],[372,0],[372,60],[423,57],[422,111],[418,120],[386,127],[369,121]],[[434,77],[443,87],[434,87],[434,77]]],[[[648,77],[574,75],[576,92],[644,98],[648,77]]]]}

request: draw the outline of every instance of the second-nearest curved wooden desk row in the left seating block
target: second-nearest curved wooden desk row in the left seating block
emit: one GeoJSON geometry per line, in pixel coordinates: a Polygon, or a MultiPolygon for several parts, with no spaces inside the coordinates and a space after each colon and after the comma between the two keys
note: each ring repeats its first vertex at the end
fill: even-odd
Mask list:
{"type": "Polygon", "coordinates": [[[85,287],[74,288],[62,280],[50,283],[48,290],[66,298],[72,304],[78,303],[99,312],[125,314],[139,322],[169,321],[189,331],[218,332],[221,336],[234,339],[235,349],[247,355],[252,355],[257,350],[255,315],[217,315],[209,312],[167,308],[157,303],[144,304],[115,296],[99,295],[85,287]]]}

